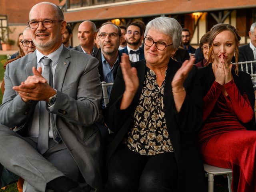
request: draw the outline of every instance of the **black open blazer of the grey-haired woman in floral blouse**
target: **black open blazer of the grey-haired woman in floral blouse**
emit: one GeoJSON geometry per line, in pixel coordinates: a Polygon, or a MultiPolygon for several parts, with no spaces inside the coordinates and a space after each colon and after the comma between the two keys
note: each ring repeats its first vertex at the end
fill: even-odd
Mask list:
{"type": "MultiPolygon", "coordinates": [[[[110,95],[108,107],[104,110],[104,117],[108,128],[114,131],[114,140],[106,151],[106,163],[114,154],[122,142],[122,138],[132,124],[136,106],[139,103],[140,94],[146,72],[146,60],[132,64],[138,71],[140,86],[132,104],[125,110],[120,110],[122,94],[125,90],[121,69],[118,69],[116,80],[110,95]]],[[[181,63],[170,59],[164,85],[164,109],[166,126],[170,140],[174,148],[174,154],[178,164],[179,192],[205,191],[204,168],[201,154],[196,144],[197,132],[202,124],[202,94],[200,82],[197,76],[196,66],[193,66],[188,78],[184,82],[187,92],[186,98],[179,113],[176,112],[171,82],[181,63]]]]}

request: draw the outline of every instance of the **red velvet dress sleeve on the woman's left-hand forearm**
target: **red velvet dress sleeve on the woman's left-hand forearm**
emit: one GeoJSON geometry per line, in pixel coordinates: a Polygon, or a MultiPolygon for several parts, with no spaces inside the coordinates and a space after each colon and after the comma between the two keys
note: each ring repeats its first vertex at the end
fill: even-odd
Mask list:
{"type": "Polygon", "coordinates": [[[214,81],[208,93],[204,96],[204,106],[203,106],[203,122],[212,112],[216,101],[218,100],[223,86],[218,82],[214,81]]]}

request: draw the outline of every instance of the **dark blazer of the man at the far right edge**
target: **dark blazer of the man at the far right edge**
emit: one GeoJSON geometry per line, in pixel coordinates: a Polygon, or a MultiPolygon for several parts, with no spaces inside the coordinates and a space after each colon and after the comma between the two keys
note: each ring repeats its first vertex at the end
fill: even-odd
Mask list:
{"type": "MultiPolygon", "coordinates": [[[[244,62],[244,61],[253,61],[254,54],[252,49],[250,48],[250,44],[246,44],[243,46],[239,46],[238,48],[239,55],[238,55],[238,62],[244,62]]],[[[246,65],[243,64],[243,69],[246,71],[246,65]]],[[[252,64],[253,73],[256,70],[255,63],[252,64]]],[[[239,67],[239,70],[241,70],[241,67],[239,67]]],[[[248,72],[251,74],[251,68],[248,67],[248,72]]]]}

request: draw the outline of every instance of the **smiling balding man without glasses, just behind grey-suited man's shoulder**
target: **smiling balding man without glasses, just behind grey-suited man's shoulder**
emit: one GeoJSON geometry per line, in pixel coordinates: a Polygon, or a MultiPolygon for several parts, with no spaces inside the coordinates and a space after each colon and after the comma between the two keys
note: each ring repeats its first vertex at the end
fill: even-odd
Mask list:
{"type": "Polygon", "coordinates": [[[80,51],[92,56],[95,56],[98,48],[94,46],[94,39],[97,35],[96,25],[91,21],[84,21],[78,27],[79,44],[73,47],[73,50],[80,51]]]}

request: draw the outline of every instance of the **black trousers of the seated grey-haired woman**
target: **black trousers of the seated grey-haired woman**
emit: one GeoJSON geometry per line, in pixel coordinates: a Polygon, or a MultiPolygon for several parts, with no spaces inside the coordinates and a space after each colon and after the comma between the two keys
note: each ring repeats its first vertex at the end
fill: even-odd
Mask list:
{"type": "Polygon", "coordinates": [[[153,156],[120,146],[108,163],[104,192],[175,192],[178,167],[173,152],[153,156]]]}

